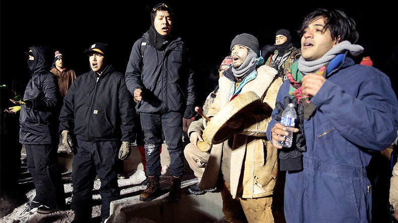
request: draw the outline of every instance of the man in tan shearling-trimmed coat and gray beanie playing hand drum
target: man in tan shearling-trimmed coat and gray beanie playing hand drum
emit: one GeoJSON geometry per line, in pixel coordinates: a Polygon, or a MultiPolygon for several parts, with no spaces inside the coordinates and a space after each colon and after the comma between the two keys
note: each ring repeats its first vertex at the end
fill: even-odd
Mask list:
{"type": "Polygon", "coordinates": [[[277,149],[266,138],[282,79],[277,70],[258,57],[258,40],[250,34],[237,35],[231,43],[232,67],[219,80],[219,91],[208,116],[239,94],[254,91],[262,99],[259,115],[236,115],[227,123],[238,133],[212,147],[199,188],[217,183],[221,171],[223,212],[227,222],[274,222],[272,194],[278,174],[277,149]],[[244,121],[243,121],[244,120],[244,121]],[[238,198],[238,199],[235,199],[238,198]]]}

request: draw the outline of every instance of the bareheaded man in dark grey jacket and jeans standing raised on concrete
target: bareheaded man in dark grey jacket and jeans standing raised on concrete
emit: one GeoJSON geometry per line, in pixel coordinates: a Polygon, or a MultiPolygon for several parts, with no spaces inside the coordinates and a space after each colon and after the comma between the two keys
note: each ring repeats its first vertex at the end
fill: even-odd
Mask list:
{"type": "Polygon", "coordinates": [[[158,194],[160,172],[159,145],[162,128],[170,154],[171,186],[169,200],[181,198],[184,170],[182,118],[195,114],[193,72],[181,38],[170,34],[172,11],[166,4],[156,5],[151,13],[152,26],[131,49],[126,69],[126,84],[138,100],[141,125],[145,135],[145,156],[149,184],[140,195],[149,201],[158,194]],[[184,112],[185,110],[185,112],[184,112]]]}

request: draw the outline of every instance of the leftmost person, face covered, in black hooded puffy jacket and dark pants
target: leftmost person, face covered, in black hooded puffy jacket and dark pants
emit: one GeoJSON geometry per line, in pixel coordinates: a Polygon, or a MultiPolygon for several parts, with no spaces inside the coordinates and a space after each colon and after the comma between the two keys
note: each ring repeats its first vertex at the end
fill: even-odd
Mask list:
{"type": "Polygon", "coordinates": [[[23,99],[12,100],[17,106],[8,111],[21,112],[19,142],[25,145],[28,170],[36,189],[28,208],[38,207],[38,213],[52,213],[65,203],[57,158],[58,84],[47,70],[45,47],[30,47],[25,54],[31,79],[23,99]]]}

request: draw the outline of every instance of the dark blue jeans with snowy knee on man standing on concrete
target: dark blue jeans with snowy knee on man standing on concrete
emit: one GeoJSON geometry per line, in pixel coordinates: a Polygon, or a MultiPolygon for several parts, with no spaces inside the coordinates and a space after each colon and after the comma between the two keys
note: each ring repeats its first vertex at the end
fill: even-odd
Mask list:
{"type": "Polygon", "coordinates": [[[170,175],[181,177],[184,172],[182,148],[182,114],[176,111],[162,114],[140,113],[145,136],[147,174],[160,176],[159,146],[162,144],[162,129],[170,155],[170,175]]]}

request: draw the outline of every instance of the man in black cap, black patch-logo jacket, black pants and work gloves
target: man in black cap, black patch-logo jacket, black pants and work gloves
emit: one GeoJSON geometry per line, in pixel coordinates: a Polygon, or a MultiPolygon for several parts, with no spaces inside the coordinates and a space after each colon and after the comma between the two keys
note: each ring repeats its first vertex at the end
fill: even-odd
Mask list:
{"type": "Polygon", "coordinates": [[[110,202],[120,194],[115,162],[128,157],[135,141],[133,99],[124,75],[108,62],[107,50],[107,44],[95,43],[85,51],[91,71],[73,82],[59,116],[62,143],[74,152],[72,222],[91,218],[96,173],[101,179],[101,219],[109,217],[110,202]]]}

